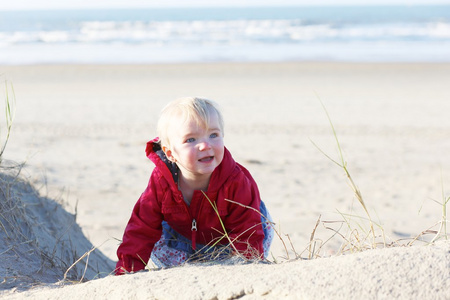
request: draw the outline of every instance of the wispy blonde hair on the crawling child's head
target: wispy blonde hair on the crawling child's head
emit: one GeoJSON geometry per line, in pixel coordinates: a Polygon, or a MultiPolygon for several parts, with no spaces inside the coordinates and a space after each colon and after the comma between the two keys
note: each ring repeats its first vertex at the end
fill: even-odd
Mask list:
{"type": "Polygon", "coordinates": [[[214,101],[197,97],[184,97],[170,102],[163,108],[158,120],[157,133],[161,145],[170,147],[169,128],[175,119],[183,122],[194,120],[199,126],[208,128],[211,114],[214,112],[217,114],[219,129],[223,135],[222,113],[214,101]]]}

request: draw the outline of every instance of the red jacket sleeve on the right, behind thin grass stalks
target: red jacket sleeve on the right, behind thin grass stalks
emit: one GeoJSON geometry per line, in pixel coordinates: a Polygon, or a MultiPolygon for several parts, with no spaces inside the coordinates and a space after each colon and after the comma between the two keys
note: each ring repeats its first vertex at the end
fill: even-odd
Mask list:
{"type": "Polygon", "coordinates": [[[256,182],[250,173],[244,169],[231,187],[228,203],[228,217],[225,227],[229,237],[239,253],[247,258],[263,258],[264,232],[259,213],[261,199],[256,182]]]}

